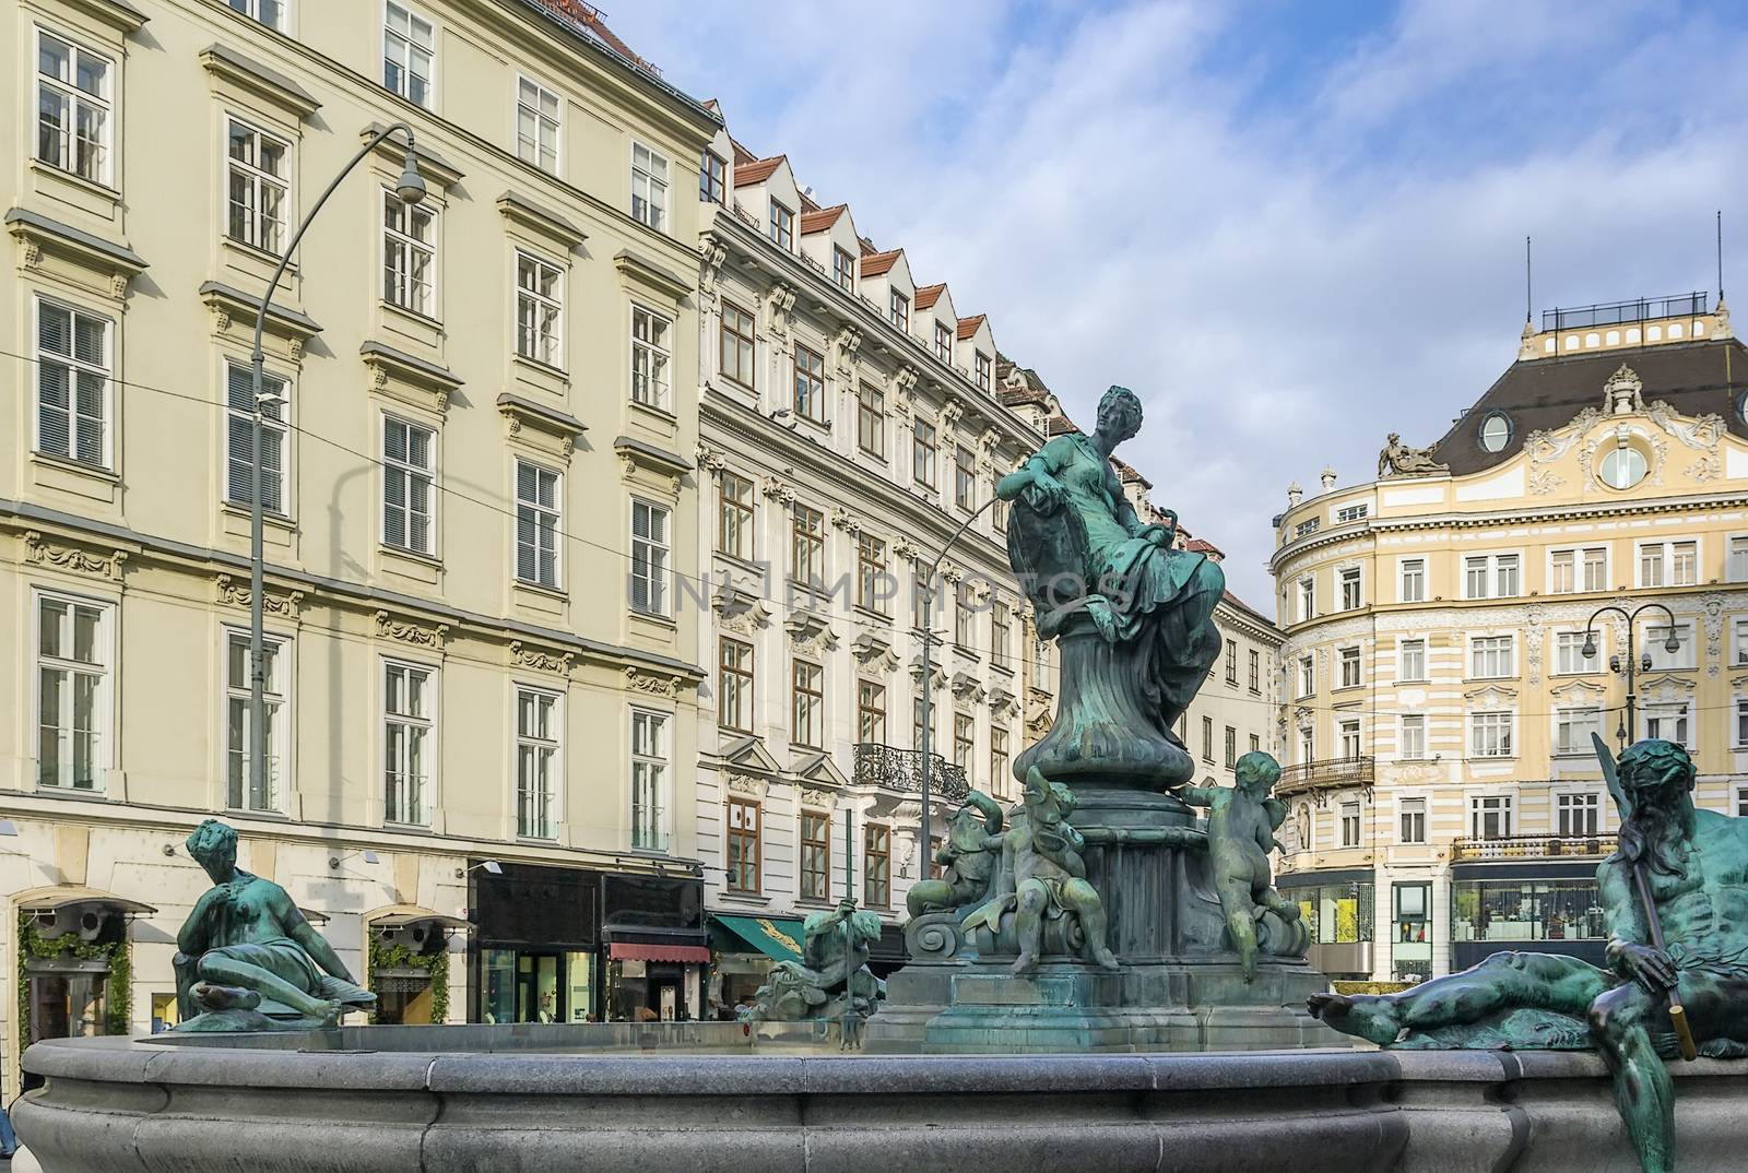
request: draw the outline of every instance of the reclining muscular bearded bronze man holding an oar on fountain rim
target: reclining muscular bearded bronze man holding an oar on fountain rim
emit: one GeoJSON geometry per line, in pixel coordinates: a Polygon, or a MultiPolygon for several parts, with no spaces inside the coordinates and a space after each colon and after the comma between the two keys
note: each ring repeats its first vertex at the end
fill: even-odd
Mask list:
{"type": "Polygon", "coordinates": [[[1675,1084],[1662,1059],[1680,1049],[1671,995],[1699,1054],[1748,1056],[1748,820],[1694,806],[1694,762],[1678,745],[1640,741],[1619,766],[1601,757],[1620,806],[1620,846],[1596,871],[1606,968],[1496,953],[1404,993],[1314,995],[1311,1012],[1381,1047],[1594,1047],[1641,1166],[1669,1173],[1675,1084]]]}

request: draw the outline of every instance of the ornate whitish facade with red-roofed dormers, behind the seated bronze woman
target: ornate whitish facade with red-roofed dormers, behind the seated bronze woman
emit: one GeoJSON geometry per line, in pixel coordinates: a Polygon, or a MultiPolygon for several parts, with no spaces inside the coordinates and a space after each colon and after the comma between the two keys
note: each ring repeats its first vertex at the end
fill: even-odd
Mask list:
{"type": "Polygon", "coordinates": [[[1054,673],[1007,568],[995,481],[1042,444],[1007,402],[982,315],[921,285],[844,205],[727,129],[699,168],[697,855],[713,995],[731,1009],[844,895],[902,960],[921,874],[921,704],[932,829],[967,787],[1017,799],[1054,673]],[[923,675],[923,593],[940,559],[923,675]]]}

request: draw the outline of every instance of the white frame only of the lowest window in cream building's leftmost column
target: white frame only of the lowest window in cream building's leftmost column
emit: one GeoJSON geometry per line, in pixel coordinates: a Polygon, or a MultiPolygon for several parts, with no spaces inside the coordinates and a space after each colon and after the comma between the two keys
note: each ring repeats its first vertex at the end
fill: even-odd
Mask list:
{"type": "Polygon", "coordinates": [[[115,603],[100,598],[89,598],[84,594],[72,594],[66,591],[44,591],[33,589],[30,600],[30,694],[31,694],[31,727],[30,727],[30,753],[31,753],[31,778],[38,790],[51,790],[54,794],[103,794],[108,788],[108,771],[114,766],[114,729],[115,729],[115,649],[119,642],[115,640],[115,603]],[[61,621],[65,628],[61,635],[61,647],[68,656],[45,657],[42,654],[42,608],[49,603],[59,603],[66,607],[66,617],[61,621]],[[98,663],[84,663],[72,657],[72,615],[73,608],[86,607],[98,612],[98,629],[96,629],[96,656],[98,663]],[[56,682],[58,708],[65,715],[65,724],[56,724],[56,780],[42,780],[42,675],[44,671],[61,673],[56,682]],[[94,677],[91,699],[91,785],[80,787],[72,776],[73,767],[73,677],[94,677]]]}

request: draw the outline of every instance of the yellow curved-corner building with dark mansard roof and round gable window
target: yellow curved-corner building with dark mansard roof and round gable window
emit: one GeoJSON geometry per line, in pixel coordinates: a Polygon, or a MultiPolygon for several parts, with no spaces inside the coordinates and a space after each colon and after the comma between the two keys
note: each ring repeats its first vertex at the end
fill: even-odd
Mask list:
{"type": "Polygon", "coordinates": [[[1687,745],[1697,801],[1741,813],[1745,360],[1703,294],[1549,311],[1430,449],[1391,437],[1376,481],[1288,489],[1280,883],[1327,972],[1599,958],[1592,732],[1687,745]]]}

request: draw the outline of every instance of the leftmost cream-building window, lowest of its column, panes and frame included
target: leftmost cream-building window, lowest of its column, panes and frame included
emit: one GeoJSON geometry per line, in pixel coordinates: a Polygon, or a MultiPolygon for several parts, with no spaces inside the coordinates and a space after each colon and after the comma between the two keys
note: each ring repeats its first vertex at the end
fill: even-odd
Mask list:
{"type": "Polygon", "coordinates": [[[103,788],[110,647],[108,607],[37,600],[37,785],[103,788]]]}

